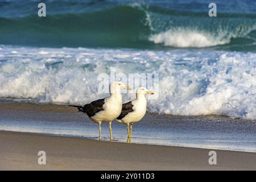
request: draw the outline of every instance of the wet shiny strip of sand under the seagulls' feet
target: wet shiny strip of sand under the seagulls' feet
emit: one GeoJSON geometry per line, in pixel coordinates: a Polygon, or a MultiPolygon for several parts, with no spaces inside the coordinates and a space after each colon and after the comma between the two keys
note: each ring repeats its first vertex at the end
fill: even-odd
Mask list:
{"type": "MultiPolygon", "coordinates": [[[[132,143],[256,152],[255,123],[215,115],[184,117],[147,113],[134,125],[132,143]],[[234,138],[233,136],[236,136],[234,138]],[[243,138],[243,139],[241,139],[243,138]]],[[[0,130],[97,140],[97,125],[64,105],[0,102],[0,130]]],[[[126,127],[113,122],[114,142],[127,142],[126,127]]],[[[103,140],[109,140],[102,125],[103,140]]]]}

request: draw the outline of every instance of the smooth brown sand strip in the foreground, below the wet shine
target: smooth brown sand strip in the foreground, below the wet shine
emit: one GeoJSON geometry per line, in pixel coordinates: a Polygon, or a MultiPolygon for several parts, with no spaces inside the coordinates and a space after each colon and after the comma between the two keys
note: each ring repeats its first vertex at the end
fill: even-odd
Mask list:
{"type": "Polygon", "coordinates": [[[256,154],[0,131],[2,170],[255,170],[256,154]],[[39,165],[39,151],[46,165],[39,165]]]}

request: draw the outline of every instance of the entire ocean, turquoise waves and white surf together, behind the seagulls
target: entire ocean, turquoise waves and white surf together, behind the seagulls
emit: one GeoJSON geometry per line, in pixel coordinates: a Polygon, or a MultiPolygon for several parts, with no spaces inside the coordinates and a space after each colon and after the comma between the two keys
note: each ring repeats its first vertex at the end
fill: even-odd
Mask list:
{"type": "MultiPolygon", "coordinates": [[[[159,73],[148,111],[256,119],[256,1],[0,2],[0,98],[85,104],[97,77],[159,73]]],[[[124,95],[124,101],[134,94],[124,95]]]]}

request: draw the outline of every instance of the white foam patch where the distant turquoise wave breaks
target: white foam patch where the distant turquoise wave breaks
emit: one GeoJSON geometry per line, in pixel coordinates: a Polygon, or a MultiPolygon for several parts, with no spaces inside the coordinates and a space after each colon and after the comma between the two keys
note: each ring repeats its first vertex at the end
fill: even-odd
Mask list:
{"type": "MultiPolygon", "coordinates": [[[[219,35],[220,36],[220,35],[219,35]]],[[[154,34],[149,40],[155,44],[172,47],[210,47],[229,43],[229,39],[216,38],[214,35],[193,30],[168,30],[154,34]]]]}

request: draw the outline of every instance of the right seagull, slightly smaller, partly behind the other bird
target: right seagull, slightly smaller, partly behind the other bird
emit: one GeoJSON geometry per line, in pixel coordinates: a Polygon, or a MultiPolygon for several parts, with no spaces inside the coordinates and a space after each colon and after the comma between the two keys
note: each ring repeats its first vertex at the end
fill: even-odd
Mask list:
{"type": "Polygon", "coordinates": [[[127,124],[127,134],[128,139],[131,138],[131,130],[133,128],[133,123],[141,121],[141,119],[146,114],[147,110],[147,100],[146,94],[154,94],[144,87],[140,87],[136,91],[136,100],[127,102],[122,106],[122,112],[116,119],[120,123],[127,124]],[[130,126],[131,124],[131,126],[130,126]],[[130,128],[130,129],[129,129],[130,128]]]}

